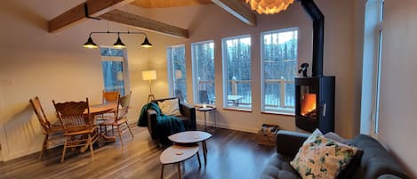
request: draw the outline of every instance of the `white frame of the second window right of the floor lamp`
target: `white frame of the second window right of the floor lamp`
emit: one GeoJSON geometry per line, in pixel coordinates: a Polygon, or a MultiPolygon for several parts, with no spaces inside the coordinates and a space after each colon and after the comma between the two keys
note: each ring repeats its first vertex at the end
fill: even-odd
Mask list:
{"type": "MultiPolygon", "coordinates": [[[[197,68],[197,59],[196,59],[196,52],[194,50],[196,45],[201,45],[201,44],[210,44],[213,43],[213,73],[215,73],[215,69],[216,69],[216,64],[214,62],[215,59],[215,53],[216,53],[216,44],[214,43],[214,40],[204,40],[204,41],[199,41],[199,42],[194,42],[191,43],[191,61],[192,61],[192,82],[193,82],[193,103],[195,105],[203,105],[203,103],[199,103],[198,102],[198,93],[199,93],[199,84],[198,84],[198,73],[196,73],[196,68],[197,68]]],[[[214,91],[214,99],[215,99],[215,92],[216,92],[216,83],[215,83],[216,77],[214,75],[214,79],[213,79],[213,91],[214,91]]],[[[215,102],[213,103],[213,105],[215,105],[215,102]]]]}

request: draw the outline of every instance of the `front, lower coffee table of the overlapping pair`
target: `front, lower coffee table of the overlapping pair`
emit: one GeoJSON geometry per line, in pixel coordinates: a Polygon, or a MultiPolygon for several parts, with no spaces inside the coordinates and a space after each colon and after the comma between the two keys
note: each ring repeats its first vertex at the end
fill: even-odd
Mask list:
{"type": "Polygon", "coordinates": [[[200,155],[198,154],[198,145],[190,145],[190,146],[180,146],[180,145],[172,145],[165,149],[159,160],[162,163],[162,170],[161,170],[161,178],[164,177],[164,165],[168,164],[175,164],[178,163],[178,176],[181,178],[181,165],[180,163],[185,161],[186,159],[190,159],[194,155],[196,155],[198,159],[198,164],[201,167],[200,162],[200,155]]]}

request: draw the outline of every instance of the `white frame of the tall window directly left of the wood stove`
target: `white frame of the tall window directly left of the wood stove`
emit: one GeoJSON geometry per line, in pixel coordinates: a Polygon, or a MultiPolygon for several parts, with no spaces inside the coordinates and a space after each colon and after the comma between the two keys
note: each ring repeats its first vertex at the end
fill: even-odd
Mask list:
{"type": "MultiPolygon", "coordinates": [[[[261,32],[261,36],[260,36],[260,41],[261,41],[261,112],[265,112],[265,113],[277,113],[277,114],[283,114],[283,115],[294,115],[295,114],[295,106],[293,107],[293,110],[285,110],[285,109],[279,109],[279,104],[277,107],[277,110],[267,110],[265,108],[265,98],[264,98],[264,94],[265,94],[265,77],[264,77],[264,62],[265,62],[265,58],[264,58],[264,40],[263,40],[263,36],[266,34],[273,34],[273,33],[283,33],[283,32],[288,32],[288,31],[297,31],[297,64],[298,64],[298,53],[299,53],[299,30],[300,28],[298,27],[293,27],[293,28],[281,28],[281,29],[275,29],[275,30],[268,30],[268,31],[263,31],[261,32]]],[[[296,65],[298,66],[298,65],[296,65]]],[[[296,69],[294,69],[296,70],[296,69]]],[[[286,82],[285,82],[286,83],[286,82]]],[[[293,79],[293,83],[294,83],[294,79],[293,79]]],[[[285,88],[285,87],[284,87],[285,88]]],[[[281,94],[280,94],[281,96],[281,94]]],[[[295,102],[294,102],[295,103],[295,102]]]]}

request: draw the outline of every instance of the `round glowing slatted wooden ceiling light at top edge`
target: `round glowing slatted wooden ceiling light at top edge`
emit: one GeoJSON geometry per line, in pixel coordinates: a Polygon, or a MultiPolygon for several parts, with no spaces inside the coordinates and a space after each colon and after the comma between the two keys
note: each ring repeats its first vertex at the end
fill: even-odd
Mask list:
{"type": "Polygon", "coordinates": [[[251,5],[251,9],[259,14],[273,14],[285,11],[294,0],[246,0],[251,5]]]}

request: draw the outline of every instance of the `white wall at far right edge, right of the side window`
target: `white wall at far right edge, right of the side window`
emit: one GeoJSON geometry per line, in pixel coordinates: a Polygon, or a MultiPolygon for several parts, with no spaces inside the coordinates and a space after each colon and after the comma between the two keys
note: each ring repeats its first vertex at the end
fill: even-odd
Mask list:
{"type": "Polygon", "coordinates": [[[417,1],[385,0],[379,140],[417,178],[417,1]]]}

